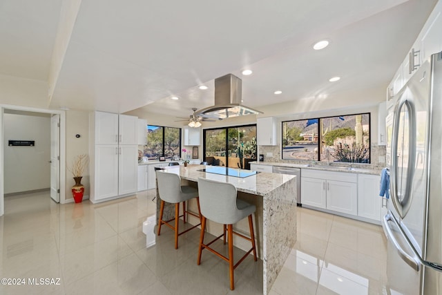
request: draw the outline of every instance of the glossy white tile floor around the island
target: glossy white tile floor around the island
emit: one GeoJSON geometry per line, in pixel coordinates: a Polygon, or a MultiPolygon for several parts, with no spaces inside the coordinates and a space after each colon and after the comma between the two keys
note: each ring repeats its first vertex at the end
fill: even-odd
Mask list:
{"type": "MultiPolygon", "coordinates": [[[[198,229],[180,236],[175,250],[164,227],[146,249],[142,222],[156,211],[153,193],[102,204],[59,205],[48,193],[6,197],[0,277],[26,285],[0,285],[0,294],[262,294],[260,261],[238,266],[233,292],[227,263],[203,252],[196,265],[198,229]],[[60,285],[28,278],[60,278],[60,285]]],[[[381,227],[299,209],[298,242],[271,294],[386,294],[385,245],[381,227]]]]}

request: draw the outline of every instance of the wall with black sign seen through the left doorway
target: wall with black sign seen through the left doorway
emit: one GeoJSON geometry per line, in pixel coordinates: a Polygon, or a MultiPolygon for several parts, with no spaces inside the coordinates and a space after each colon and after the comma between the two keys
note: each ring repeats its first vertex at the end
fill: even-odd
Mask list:
{"type": "Polygon", "coordinates": [[[4,193],[50,187],[50,115],[3,115],[4,193]],[[35,140],[35,146],[8,146],[35,140]]]}

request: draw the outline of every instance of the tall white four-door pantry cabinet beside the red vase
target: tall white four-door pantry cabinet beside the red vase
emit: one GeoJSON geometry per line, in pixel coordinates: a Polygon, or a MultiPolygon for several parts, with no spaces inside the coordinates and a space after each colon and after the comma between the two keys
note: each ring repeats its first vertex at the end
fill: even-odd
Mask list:
{"type": "Polygon", "coordinates": [[[137,191],[137,117],[90,114],[90,201],[137,191]]]}

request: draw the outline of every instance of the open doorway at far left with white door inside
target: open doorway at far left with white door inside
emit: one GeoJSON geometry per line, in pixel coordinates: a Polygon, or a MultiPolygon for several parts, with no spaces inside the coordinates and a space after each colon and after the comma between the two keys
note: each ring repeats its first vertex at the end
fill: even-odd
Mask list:
{"type": "MultiPolygon", "coordinates": [[[[66,201],[66,185],[64,181],[61,180],[65,179],[66,170],[66,160],[64,160],[65,112],[19,106],[0,107],[0,216],[2,216],[5,211],[4,195],[10,191],[19,192],[20,189],[21,191],[27,191],[30,188],[31,190],[38,190],[39,186],[46,186],[46,188],[50,187],[50,197],[55,200],[55,202],[64,203],[66,201]],[[12,137],[15,136],[15,130],[12,131],[11,135],[11,132],[5,128],[8,128],[8,124],[10,124],[9,120],[11,118],[15,120],[13,121],[15,123],[13,125],[15,127],[13,128],[18,129],[19,127],[17,125],[21,125],[21,130],[25,130],[23,133],[25,134],[24,136],[29,138],[15,138],[17,142],[9,142],[9,140],[12,140],[12,137]],[[21,118],[23,118],[23,121],[17,121],[21,118]],[[28,127],[26,124],[37,124],[39,128],[37,130],[50,129],[50,131],[41,131],[41,133],[46,134],[37,134],[37,132],[26,133],[26,128],[28,127]],[[6,138],[6,134],[8,134],[8,138],[6,138]],[[32,139],[35,138],[38,138],[38,140],[32,143],[32,139]],[[23,142],[20,142],[20,140],[23,142]],[[12,146],[11,144],[23,144],[23,146],[12,146]],[[35,144],[35,146],[32,146],[32,144],[35,144]],[[37,144],[39,146],[37,146],[37,144]],[[45,145],[47,148],[45,148],[45,145]],[[14,149],[15,147],[17,147],[17,149],[14,149]],[[46,149],[46,154],[42,149],[46,149]],[[8,162],[11,155],[16,159],[19,157],[25,158],[26,161],[23,162],[23,160],[21,160],[19,164],[25,165],[29,167],[29,169],[37,167],[37,172],[32,173],[33,176],[20,174],[22,176],[21,179],[13,180],[12,186],[8,186],[8,188],[4,185],[8,184],[11,180],[10,175],[8,175],[8,170],[11,169],[11,167],[11,170],[15,170],[15,167],[8,162]],[[46,167],[45,169],[48,169],[48,171],[46,171],[46,173],[43,171],[39,173],[39,167],[41,167],[41,169],[46,167]],[[32,178],[36,179],[32,180],[32,178]],[[7,182],[5,182],[5,180],[7,182]],[[35,189],[32,189],[32,184],[25,184],[26,182],[31,182],[31,180],[34,181],[33,185],[35,189]],[[22,182],[22,184],[17,184],[17,182],[22,182]],[[14,185],[16,187],[14,187],[14,185]]],[[[17,134],[19,134],[18,131],[17,134]]],[[[19,135],[17,135],[17,137],[19,137],[19,135]]],[[[12,171],[11,175],[14,175],[12,171]]]]}

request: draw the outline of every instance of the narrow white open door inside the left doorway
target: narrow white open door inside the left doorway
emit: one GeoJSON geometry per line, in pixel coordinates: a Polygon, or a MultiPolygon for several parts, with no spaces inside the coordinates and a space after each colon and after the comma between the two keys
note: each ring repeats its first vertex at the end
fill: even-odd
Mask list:
{"type": "Polygon", "coordinates": [[[60,202],[60,115],[50,118],[50,198],[60,202]]]}

